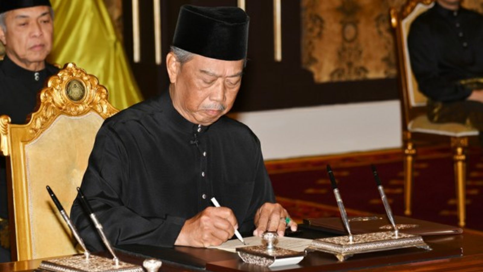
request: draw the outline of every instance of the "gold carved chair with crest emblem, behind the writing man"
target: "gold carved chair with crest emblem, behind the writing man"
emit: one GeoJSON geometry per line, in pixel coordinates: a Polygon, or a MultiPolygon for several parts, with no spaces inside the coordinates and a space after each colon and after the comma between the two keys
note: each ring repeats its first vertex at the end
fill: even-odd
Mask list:
{"type": "Polygon", "coordinates": [[[68,63],[48,80],[28,124],[11,124],[8,116],[0,116],[0,151],[10,173],[13,258],[76,253],[75,240],[45,186],[69,214],[97,131],[117,112],[107,96],[95,76],[68,63]]]}

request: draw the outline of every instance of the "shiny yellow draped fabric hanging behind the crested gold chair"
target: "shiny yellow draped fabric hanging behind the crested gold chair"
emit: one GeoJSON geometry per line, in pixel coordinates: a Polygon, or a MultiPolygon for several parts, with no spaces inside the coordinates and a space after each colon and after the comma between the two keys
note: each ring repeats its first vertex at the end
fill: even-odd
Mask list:
{"type": "Polygon", "coordinates": [[[142,100],[121,39],[102,0],[51,0],[54,9],[52,63],[75,62],[111,91],[109,101],[124,109],[142,100]]]}

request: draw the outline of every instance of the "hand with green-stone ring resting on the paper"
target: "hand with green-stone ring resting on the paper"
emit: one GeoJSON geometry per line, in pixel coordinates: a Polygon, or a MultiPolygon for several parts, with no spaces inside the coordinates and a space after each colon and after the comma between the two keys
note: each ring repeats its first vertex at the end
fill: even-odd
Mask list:
{"type": "MultiPolygon", "coordinates": [[[[261,236],[265,231],[277,231],[279,236],[284,236],[287,223],[286,218],[290,218],[288,212],[278,203],[265,203],[255,213],[254,236],[261,236]]],[[[288,227],[292,231],[297,230],[297,223],[293,220],[288,222],[288,227]]]]}

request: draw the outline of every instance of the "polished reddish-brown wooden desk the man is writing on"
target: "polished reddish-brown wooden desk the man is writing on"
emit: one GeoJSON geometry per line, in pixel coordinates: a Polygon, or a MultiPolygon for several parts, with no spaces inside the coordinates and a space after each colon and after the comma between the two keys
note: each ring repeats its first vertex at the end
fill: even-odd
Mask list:
{"type": "MultiPolygon", "coordinates": [[[[305,231],[305,230],[304,230],[305,231]]],[[[313,235],[306,231],[306,235],[313,235]]],[[[320,237],[319,233],[319,237],[320,237]]],[[[322,235],[324,236],[324,235],[322,235]]],[[[327,235],[326,235],[327,236],[327,235]]],[[[189,254],[203,260],[207,271],[482,271],[483,233],[465,230],[459,235],[426,236],[424,240],[434,249],[426,252],[421,249],[400,249],[379,253],[355,255],[344,262],[326,253],[310,253],[298,265],[268,269],[243,263],[234,253],[215,249],[175,247],[175,254],[189,254]],[[462,249],[462,250],[459,250],[462,249]],[[462,253],[461,253],[462,251],[462,253]],[[450,254],[451,256],[448,256],[450,254]],[[424,257],[422,257],[424,255],[424,257]],[[440,257],[438,257],[438,255],[440,257]],[[444,256],[445,257],[441,257],[444,256]]],[[[141,257],[119,254],[123,261],[141,264],[141,257]]],[[[32,271],[42,260],[0,263],[0,272],[32,271]]],[[[184,267],[163,262],[162,272],[193,271],[184,267]]]]}

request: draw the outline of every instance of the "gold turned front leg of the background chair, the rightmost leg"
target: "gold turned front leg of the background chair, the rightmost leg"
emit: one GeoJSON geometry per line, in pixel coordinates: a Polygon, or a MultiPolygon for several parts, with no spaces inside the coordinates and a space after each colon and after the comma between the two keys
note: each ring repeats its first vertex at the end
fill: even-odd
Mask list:
{"type": "Polygon", "coordinates": [[[467,137],[452,137],[451,146],[454,148],[453,160],[455,164],[456,198],[458,211],[458,226],[465,227],[466,221],[466,148],[467,137]]]}

